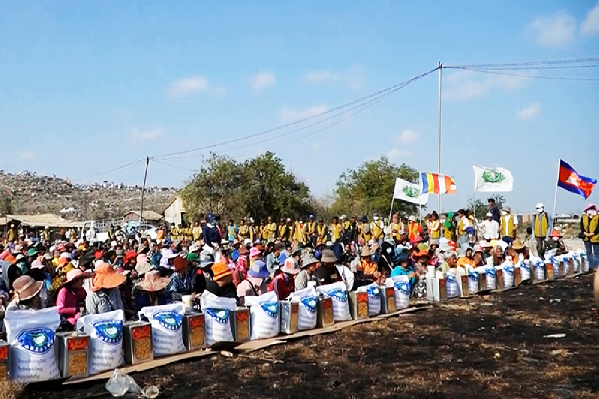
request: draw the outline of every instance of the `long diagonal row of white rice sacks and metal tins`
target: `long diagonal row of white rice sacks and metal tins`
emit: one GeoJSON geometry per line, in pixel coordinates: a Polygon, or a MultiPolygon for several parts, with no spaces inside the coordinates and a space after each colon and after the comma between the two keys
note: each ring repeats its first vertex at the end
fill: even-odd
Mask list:
{"type": "MultiPolygon", "coordinates": [[[[429,300],[468,297],[489,290],[517,287],[589,272],[582,251],[533,258],[512,265],[477,267],[467,274],[430,270],[426,275],[429,300]]],[[[410,281],[395,276],[347,291],[343,282],[296,291],[279,301],[270,292],[246,297],[243,307],[235,299],[205,291],[201,313],[184,303],[144,307],[140,319],[125,322],[122,310],[83,316],[77,331],[56,333],[60,316],[56,307],[7,312],[8,343],[0,342],[0,380],[23,383],[66,377],[87,377],[123,364],[138,364],[217,342],[247,342],[326,328],[337,322],[393,313],[409,306],[410,281]]]]}

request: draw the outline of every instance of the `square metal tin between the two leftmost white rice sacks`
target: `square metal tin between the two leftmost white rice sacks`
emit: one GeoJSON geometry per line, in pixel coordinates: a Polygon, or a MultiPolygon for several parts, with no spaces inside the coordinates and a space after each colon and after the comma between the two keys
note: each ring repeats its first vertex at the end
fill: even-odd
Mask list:
{"type": "Polygon", "coordinates": [[[56,333],[54,343],[61,377],[89,375],[89,335],[76,331],[56,333]]]}

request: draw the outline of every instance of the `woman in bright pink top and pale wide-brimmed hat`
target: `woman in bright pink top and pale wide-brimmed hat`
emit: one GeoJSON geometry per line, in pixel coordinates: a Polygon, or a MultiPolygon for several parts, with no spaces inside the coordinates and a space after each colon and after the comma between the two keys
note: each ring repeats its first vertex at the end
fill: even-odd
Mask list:
{"type": "Polygon", "coordinates": [[[92,273],[83,273],[80,269],[72,269],[66,273],[66,280],[60,286],[56,306],[61,319],[75,327],[77,319],[81,317],[80,302],[85,302],[86,292],[83,289],[83,280],[92,277],[92,273]]]}

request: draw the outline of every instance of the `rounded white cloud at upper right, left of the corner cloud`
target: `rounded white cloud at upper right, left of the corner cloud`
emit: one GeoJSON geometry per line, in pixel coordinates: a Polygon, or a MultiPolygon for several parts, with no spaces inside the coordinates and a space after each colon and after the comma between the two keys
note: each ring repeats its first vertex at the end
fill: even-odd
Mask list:
{"type": "Polygon", "coordinates": [[[566,11],[557,11],[537,17],[527,29],[534,35],[537,44],[561,47],[574,41],[576,19],[566,11]]]}

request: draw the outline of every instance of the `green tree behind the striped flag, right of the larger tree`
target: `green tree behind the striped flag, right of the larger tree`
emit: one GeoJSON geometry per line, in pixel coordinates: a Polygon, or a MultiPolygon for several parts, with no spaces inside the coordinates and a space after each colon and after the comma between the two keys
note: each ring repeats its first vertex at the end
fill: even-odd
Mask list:
{"type": "MultiPolygon", "coordinates": [[[[388,215],[395,188],[395,178],[418,182],[418,170],[406,165],[389,162],[388,157],[363,163],[356,170],[347,170],[337,181],[335,201],[331,206],[334,214],[388,215]]],[[[403,201],[394,201],[393,211],[401,215],[413,215],[418,206],[403,201]]]]}

